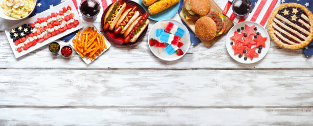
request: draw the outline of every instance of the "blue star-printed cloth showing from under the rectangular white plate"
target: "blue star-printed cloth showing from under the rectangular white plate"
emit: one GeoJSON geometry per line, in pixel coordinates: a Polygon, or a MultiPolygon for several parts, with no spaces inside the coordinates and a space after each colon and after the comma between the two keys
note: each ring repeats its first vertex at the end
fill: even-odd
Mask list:
{"type": "MultiPolygon", "coordinates": [[[[38,13],[41,13],[42,11],[48,10],[49,8],[52,8],[52,7],[54,7],[58,4],[61,4],[61,3],[62,3],[61,0],[37,0],[36,7],[35,7],[34,11],[30,14],[30,17],[32,17],[38,13]]],[[[60,39],[67,42],[71,38],[73,38],[77,34],[77,32],[78,32],[78,30],[69,34],[69,35],[66,35],[60,39]]]]}

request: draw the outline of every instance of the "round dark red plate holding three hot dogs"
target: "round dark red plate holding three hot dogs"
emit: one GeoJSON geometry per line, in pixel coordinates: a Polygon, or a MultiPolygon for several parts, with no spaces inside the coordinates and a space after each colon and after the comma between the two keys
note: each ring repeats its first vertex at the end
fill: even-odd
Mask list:
{"type": "Polygon", "coordinates": [[[133,1],[110,4],[101,18],[104,36],[118,45],[132,45],[141,40],[149,25],[149,13],[133,1]]]}

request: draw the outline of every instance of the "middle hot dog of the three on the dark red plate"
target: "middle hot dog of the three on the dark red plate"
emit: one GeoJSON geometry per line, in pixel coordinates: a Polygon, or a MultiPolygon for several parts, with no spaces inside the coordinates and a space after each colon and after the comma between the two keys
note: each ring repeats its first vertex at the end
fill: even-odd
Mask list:
{"type": "Polygon", "coordinates": [[[137,11],[137,9],[138,7],[134,6],[124,11],[124,13],[121,15],[120,19],[118,20],[115,26],[114,34],[125,33],[125,31],[131,25],[131,23],[135,21],[139,16],[140,13],[137,11]]]}

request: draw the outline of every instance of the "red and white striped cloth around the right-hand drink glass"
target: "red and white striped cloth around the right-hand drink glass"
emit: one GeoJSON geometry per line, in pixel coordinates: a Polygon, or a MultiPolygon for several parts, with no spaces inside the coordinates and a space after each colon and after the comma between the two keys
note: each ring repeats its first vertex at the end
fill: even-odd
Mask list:
{"type": "MultiPolygon", "coordinates": [[[[232,0],[230,0],[232,2],[232,0]]],[[[267,25],[267,20],[269,19],[272,11],[280,5],[280,0],[258,0],[253,8],[252,12],[245,19],[238,19],[235,17],[232,7],[232,3],[227,2],[223,14],[228,16],[235,23],[240,23],[244,21],[251,21],[260,24],[261,26],[267,25]]]]}

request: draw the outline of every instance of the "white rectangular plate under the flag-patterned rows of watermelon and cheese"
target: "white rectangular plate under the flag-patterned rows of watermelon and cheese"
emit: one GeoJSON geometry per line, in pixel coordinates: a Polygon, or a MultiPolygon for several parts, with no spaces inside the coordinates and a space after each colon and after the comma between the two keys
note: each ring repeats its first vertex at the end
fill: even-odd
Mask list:
{"type": "Polygon", "coordinates": [[[21,22],[19,24],[16,24],[16,25],[6,29],[5,32],[6,32],[8,40],[9,40],[10,46],[11,46],[11,48],[13,50],[14,56],[15,56],[15,58],[18,58],[18,57],[21,57],[21,56],[23,56],[23,55],[25,55],[27,53],[30,53],[30,52],[32,52],[32,51],[34,51],[34,50],[36,50],[36,49],[38,49],[38,48],[40,48],[40,47],[42,47],[44,45],[49,44],[52,41],[55,41],[55,40],[59,39],[60,37],[68,35],[68,34],[74,32],[74,31],[76,31],[76,30],[78,30],[80,28],[82,28],[82,22],[79,20],[79,15],[78,15],[77,11],[75,10],[75,6],[74,6],[73,2],[72,1],[66,1],[64,3],[61,3],[61,4],[57,5],[57,6],[54,6],[53,8],[50,8],[50,9],[48,9],[46,11],[43,11],[43,12],[41,12],[41,13],[31,17],[31,18],[28,18],[28,19],[24,20],[23,22],[21,22]],[[40,17],[47,17],[47,15],[50,15],[52,12],[59,12],[59,10],[62,10],[63,7],[67,7],[69,5],[71,6],[72,11],[74,11],[74,17],[77,17],[78,21],[79,21],[79,25],[76,28],[72,28],[72,29],[66,30],[66,31],[64,31],[64,32],[62,32],[60,34],[52,36],[52,37],[48,38],[47,40],[42,41],[42,43],[37,43],[35,46],[30,47],[28,50],[23,50],[21,52],[17,52],[17,50],[15,50],[16,46],[13,43],[13,39],[10,37],[11,29],[16,28],[18,26],[21,26],[23,24],[34,23],[34,22],[37,21],[38,17],[39,18],[40,17]]]}

